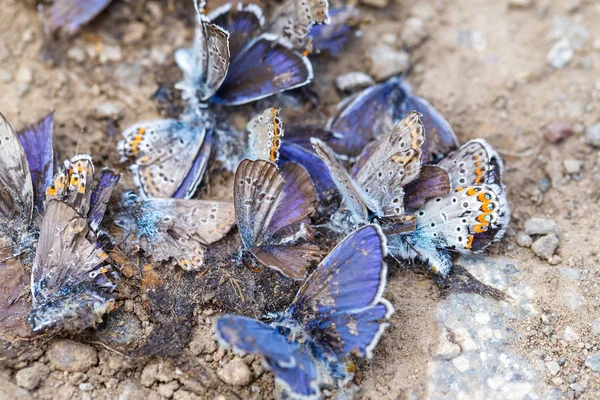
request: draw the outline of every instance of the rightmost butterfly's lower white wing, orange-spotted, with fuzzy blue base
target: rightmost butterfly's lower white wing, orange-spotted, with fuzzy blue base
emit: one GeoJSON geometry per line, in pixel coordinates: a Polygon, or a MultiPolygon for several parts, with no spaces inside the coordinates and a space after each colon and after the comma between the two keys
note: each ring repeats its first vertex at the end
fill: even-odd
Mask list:
{"type": "Polygon", "coordinates": [[[448,251],[482,251],[504,236],[509,220],[510,209],[500,186],[459,188],[428,200],[417,212],[415,231],[405,240],[413,257],[427,260],[432,269],[446,276],[452,267],[448,251]]]}

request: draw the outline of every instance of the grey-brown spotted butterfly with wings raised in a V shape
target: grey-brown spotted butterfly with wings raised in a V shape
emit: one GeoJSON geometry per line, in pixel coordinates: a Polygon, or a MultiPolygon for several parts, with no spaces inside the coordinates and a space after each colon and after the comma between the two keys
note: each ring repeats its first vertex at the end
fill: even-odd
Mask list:
{"type": "Polygon", "coordinates": [[[323,141],[311,139],[317,155],[331,173],[355,224],[404,214],[403,186],[421,171],[425,130],[421,114],[409,112],[361,157],[353,176],[323,141]]]}

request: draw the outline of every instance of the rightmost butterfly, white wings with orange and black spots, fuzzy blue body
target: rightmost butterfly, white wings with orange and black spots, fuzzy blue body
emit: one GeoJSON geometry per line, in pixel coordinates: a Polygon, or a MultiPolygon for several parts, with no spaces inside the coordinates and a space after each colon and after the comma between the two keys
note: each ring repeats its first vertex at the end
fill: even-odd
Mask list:
{"type": "Polygon", "coordinates": [[[464,144],[438,166],[448,171],[453,190],[416,211],[414,231],[388,240],[392,254],[418,258],[447,276],[452,252],[478,253],[504,236],[510,208],[501,182],[502,160],[484,140],[464,144]]]}

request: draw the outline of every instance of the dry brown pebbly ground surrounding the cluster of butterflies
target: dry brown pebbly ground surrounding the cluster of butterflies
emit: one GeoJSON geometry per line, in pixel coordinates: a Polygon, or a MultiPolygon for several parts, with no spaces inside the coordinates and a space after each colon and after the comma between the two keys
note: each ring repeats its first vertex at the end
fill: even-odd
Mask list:
{"type": "MultiPolygon", "coordinates": [[[[442,291],[415,268],[390,268],[386,297],[396,313],[374,358],[358,363],[356,397],[599,398],[600,5],[365,2],[372,4],[359,4],[362,35],[339,58],[315,59],[312,89],[321,105],[332,110],[342,97],[333,83],[340,73],[373,72],[381,43],[389,51],[410,46],[407,81],[415,92],[461,142],[483,137],[501,151],[513,217],[491,251],[457,260],[507,301],[442,291]]],[[[2,2],[1,112],[19,129],[55,110],[59,159],[78,146],[96,164],[124,172],[121,188],[132,188],[115,144],[129,124],[173,112],[153,94],[179,79],[172,54],[192,38],[189,4],[115,0],[48,57],[29,3],[2,2]]],[[[232,118],[243,126],[247,115],[232,118]]],[[[123,332],[152,328],[139,301],[123,309],[132,316],[121,320],[123,332]]],[[[136,341],[125,334],[36,343],[3,361],[0,398],[277,395],[259,359],[234,357],[214,342],[220,312],[190,312],[175,332],[191,329],[191,337],[169,357],[125,356],[116,348],[136,341]]]]}

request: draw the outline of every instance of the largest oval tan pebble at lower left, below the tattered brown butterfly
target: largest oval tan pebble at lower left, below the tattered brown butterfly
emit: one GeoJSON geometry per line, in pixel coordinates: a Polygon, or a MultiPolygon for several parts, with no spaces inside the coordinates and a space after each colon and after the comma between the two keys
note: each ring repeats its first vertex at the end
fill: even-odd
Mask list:
{"type": "Polygon", "coordinates": [[[61,371],[85,372],[98,363],[96,349],[72,340],[54,342],[46,355],[50,363],[61,371]]]}

